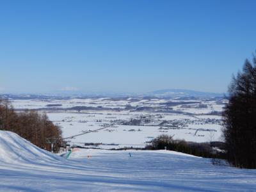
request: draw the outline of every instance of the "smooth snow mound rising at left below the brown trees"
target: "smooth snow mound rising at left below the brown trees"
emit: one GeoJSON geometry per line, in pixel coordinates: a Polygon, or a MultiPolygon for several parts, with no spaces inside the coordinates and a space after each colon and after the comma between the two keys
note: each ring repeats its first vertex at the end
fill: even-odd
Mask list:
{"type": "Polygon", "coordinates": [[[0,131],[0,161],[6,163],[40,163],[63,161],[62,157],[36,147],[18,134],[10,131],[0,131]]]}

